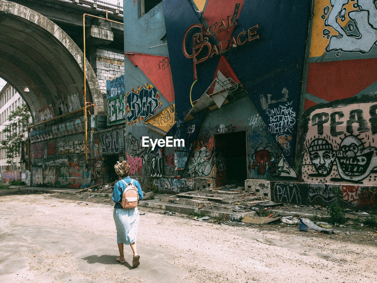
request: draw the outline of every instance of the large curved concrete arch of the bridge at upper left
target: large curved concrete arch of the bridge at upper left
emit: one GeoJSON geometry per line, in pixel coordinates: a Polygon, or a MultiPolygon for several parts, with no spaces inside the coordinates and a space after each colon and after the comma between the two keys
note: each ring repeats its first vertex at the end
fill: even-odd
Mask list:
{"type": "MultiPolygon", "coordinates": [[[[53,117],[84,107],[83,52],[59,26],[14,2],[0,0],[0,77],[28,104],[33,122],[44,109],[53,117]],[[24,92],[28,87],[29,92],[24,92]]],[[[87,101],[104,114],[104,98],[86,60],[87,101]]]]}

